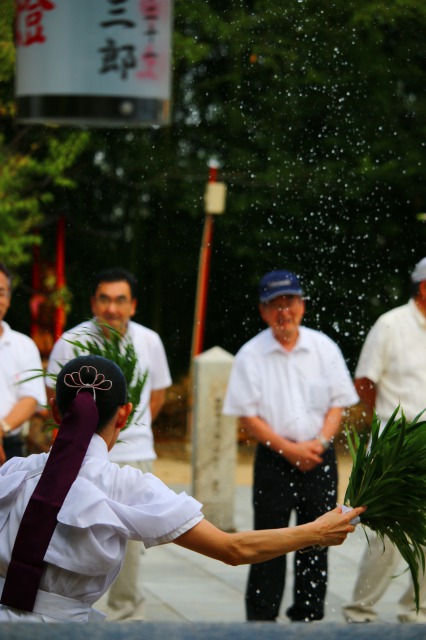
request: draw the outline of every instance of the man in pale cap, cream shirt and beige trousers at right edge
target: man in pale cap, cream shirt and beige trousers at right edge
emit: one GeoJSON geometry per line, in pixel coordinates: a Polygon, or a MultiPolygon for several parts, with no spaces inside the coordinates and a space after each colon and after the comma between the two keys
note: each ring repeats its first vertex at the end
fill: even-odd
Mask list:
{"type": "MultiPolygon", "coordinates": [[[[375,409],[382,427],[400,404],[407,420],[426,407],[426,258],[411,274],[411,299],[384,313],[367,335],[355,371],[355,386],[366,410],[375,409]]],[[[425,462],[426,464],[426,462],[425,462]]],[[[354,587],[353,601],[343,607],[348,622],[373,622],[373,608],[389,587],[401,556],[386,539],[369,537],[354,587]]],[[[410,584],[398,603],[400,622],[426,623],[426,579],[420,585],[420,610],[416,613],[410,584]]]]}

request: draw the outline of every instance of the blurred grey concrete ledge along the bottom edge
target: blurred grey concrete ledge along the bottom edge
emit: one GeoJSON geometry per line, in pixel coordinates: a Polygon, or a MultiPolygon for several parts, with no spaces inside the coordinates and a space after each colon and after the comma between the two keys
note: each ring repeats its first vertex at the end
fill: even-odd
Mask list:
{"type": "Polygon", "coordinates": [[[0,624],[0,637],[7,640],[424,640],[426,628],[419,624],[293,623],[68,623],[0,624]]]}

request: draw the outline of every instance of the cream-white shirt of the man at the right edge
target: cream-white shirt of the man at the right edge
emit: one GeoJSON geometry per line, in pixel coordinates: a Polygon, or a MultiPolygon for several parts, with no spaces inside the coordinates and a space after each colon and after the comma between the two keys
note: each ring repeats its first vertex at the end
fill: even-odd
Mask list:
{"type": "Polygon", "coordinates": [[[376,385],[376,412],[382,423],[398,404],[408,420],[426,408],[426,318],[414,300],[376,321],[362,347],[355,378],[369,378],[376,385]]]}

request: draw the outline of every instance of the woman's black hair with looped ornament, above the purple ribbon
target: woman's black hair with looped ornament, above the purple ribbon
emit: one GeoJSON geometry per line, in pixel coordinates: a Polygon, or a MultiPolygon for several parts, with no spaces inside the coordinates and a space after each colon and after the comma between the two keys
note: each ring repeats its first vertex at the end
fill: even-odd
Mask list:
{"type": "Polygon", "coordinates": [[[67,362],[56,380],[56,402],[61,416],[81,391],[93,394],[99,412],[96,431],[102,431],[117,409],[127,402],[126,379],[120,367],[101,356],[79,356],[67,362]]]}

